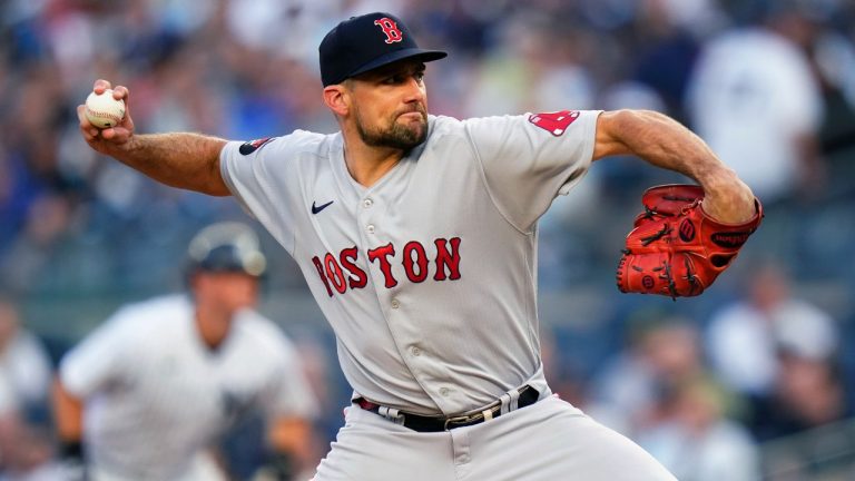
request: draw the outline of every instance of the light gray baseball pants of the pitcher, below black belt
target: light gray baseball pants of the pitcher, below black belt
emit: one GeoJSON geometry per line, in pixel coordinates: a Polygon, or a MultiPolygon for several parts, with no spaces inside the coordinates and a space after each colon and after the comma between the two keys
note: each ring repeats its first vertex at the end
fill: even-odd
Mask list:
{"type": "Polygon", "coordinates": [[[549,396],[493,420],[420,433],[358,406],[314,481],[676,481],[629,439],[549,396]]]}

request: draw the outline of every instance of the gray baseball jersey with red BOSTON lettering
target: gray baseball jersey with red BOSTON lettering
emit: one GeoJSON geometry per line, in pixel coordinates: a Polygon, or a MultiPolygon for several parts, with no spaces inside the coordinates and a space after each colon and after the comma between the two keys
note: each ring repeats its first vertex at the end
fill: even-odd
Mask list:
{"type": "Polygon", "coordinates": [[[535,225],[587,171],[598,114],[431,116],[368,188],[341,134],[229,143],[220,168],[299,265],[356,393],[450,415],[524,383],[548,392],[535,225]]]}

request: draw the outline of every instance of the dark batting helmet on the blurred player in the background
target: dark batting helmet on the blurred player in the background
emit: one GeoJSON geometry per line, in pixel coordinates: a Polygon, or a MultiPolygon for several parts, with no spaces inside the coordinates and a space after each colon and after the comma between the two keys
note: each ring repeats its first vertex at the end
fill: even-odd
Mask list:
{"type": "Polygon", "coordinates": [[[187,274],[197,272],[239,272],[254,277],[264,275],[267,259],[258,236],[247,225],[225,222],[202,229],[187,249],[187,274]]]}

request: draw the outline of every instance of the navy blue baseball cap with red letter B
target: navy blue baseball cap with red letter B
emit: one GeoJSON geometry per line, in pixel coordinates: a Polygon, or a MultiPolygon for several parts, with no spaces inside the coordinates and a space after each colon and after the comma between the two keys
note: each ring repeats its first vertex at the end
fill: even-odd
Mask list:
{"type": "Polygon", "coordinates": [[[440,50],[419,48],[403,21],[375,12],[351,17],[321,41],[321,80],[324,87],[399,60],[432,61],[445,58],[440,50]]]}

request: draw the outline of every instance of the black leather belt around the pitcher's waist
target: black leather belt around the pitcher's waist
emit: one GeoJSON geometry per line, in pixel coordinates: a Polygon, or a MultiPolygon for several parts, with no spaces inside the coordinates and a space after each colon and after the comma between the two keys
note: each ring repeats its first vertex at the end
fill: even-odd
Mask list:
{"type": "MultiPolygon", "coordinates": [[[[520,397],[517,400],[517,409],[522,409],[538,402],[540,393],[538,390],[530,385],[524,385],[519,389],[520,397]]],[[[380,414],[380,404],[375,404],[367,401],[364,397],[357,397],[353,402],[365,411],[371,411],[375,414],[380,414]]],[[[409,412],[397,411],[399,423],[404,428],[410,428],[413,431],[419,432],[442,432],[453,430],[454,428],[463,428],[468,425],[475,425],[484,422],[487,419],[499,418],[502,414],[502,403],[497,401],[488,408],[481,411],[474,412],[471,415],[451,416],[451,418],[434,418],[424,416],[421,414],[413,414],[409,412]],[[485,416],[484,411],[489,412],[485,416]],[[403,421],[401,421],[403,420],[403,421]]]]}

